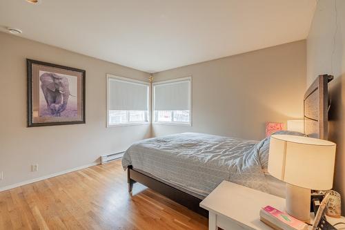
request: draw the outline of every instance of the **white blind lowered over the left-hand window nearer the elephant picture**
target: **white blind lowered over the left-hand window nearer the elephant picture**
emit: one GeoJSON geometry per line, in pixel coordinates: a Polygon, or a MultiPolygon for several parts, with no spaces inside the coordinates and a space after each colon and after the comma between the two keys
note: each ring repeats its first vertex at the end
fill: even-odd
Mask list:
{"type": "Polygon", "coordinates": [[[148,111],[148,84],[108,78],[110,111],[148,111]]]}

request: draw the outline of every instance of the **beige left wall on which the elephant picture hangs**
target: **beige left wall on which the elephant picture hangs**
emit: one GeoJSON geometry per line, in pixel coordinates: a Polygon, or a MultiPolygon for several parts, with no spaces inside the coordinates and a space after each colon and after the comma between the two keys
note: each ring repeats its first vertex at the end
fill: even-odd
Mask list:
{"type": "Polygon", "coordinates": [[[150,137],[150,126],[106,128],[106,73],[148,73],[0,32],[0,189],[96,162],[150,137]],[[86,124],[26,127],[26,58],[86,70],[86,124]],[[39,164],[31,172],[31,164],[39,164]]]}

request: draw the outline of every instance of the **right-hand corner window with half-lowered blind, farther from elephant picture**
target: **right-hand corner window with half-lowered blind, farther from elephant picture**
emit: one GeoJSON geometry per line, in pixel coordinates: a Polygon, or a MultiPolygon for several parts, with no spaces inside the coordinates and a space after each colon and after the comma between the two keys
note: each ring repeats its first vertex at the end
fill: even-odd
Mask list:
{"type": "Polygon", "coordinates": [[[191,83],[184,77],[152,84],[154,123],[191,125],[191,83]]]}

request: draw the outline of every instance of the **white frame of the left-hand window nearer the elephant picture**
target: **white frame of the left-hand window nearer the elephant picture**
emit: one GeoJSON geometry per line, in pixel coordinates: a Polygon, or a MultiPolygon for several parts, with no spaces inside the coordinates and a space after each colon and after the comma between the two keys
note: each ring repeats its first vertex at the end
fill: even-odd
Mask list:
{"type": "MultiPolygon", "coordinates": [[[[106,127],[112,128],[112,127],[121,127],[121,126],[136,126],[136,125],[143,125],[143,124],[151,124],[151,86],[150,82],[144,82],[137,79],[132,79],[128,77],[119,77],[116,75],[112,75],[107,73],[106,74],[106,127]],[[119,123],[119,124],[109,124],[109,108],[110,108],[110,89],[109,89],[109,80],[110,79],[117,79],[125,82],[131,82],[136,84],[143,84],[148,86],[148,121],[147,122],[126,122],[126,123],[119,123]]],[[[127,117],[129,120],[129,111],[127,111],[127,117]]]]}

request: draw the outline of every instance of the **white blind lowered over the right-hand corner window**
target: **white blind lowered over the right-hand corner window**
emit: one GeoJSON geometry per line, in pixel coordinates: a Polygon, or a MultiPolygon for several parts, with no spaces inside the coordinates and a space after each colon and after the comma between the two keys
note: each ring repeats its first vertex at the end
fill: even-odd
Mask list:
{"type": "Polygon", "coordinates": [[[155,111],[190,110],[190,79],[157,83],[153,86],[155,111]]]}

